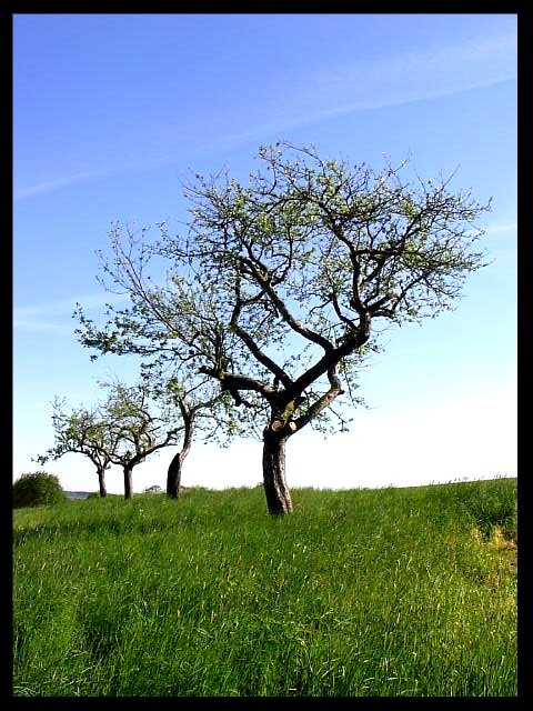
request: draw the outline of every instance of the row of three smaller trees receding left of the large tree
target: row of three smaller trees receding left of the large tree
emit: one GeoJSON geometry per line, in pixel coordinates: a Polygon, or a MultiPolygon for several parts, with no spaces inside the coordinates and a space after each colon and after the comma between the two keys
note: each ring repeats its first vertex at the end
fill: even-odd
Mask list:
{"type": "Polygon", "coordinates": [[[142,375],[133,385],[120,381],[101,383],[108,397],[91,408],[69,408],[64,399],[56,398],[52,403],[56,442],[36,461],[46,464],[68,453],[88,457],[95,467],[101,497],[107,495],[107,470],[118,464],[123,471],[124,498],[131,499],[133,469],[150,454],[178,447],[167,471],[167,494],[178,498],[183,461],[197,423],[202,418],[209,420],[211,433],[224,425],[215,407],[219,395],[194,401],[191,392],[185,392],[173,378],[155,384],[145,372],[142,375]]]}

